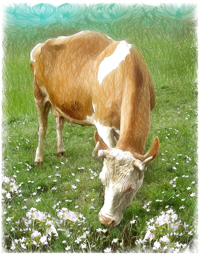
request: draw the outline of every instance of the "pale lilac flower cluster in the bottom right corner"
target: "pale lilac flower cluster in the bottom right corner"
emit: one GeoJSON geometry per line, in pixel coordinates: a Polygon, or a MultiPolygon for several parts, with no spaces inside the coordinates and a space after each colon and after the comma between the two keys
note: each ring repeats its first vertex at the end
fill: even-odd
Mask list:
{"type": "Polygon", "coordinates": [[[135,243],[152,247],[152,252],[178,253],[187,247],[185,241],[192,236],[192,231],[187,231],[187,225],[178,220],[178,215],[172,209],[161,212],[147,221],[147,230],[144,239],[139,239],[135,243]],[[179,241],[181,239],[182,243],[179,241]]]}

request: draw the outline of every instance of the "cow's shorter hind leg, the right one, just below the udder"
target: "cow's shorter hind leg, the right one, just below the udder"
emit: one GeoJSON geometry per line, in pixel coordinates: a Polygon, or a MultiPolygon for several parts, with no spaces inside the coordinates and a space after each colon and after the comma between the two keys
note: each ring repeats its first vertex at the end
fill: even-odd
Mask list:
{"type": "Polygon", "coordinates": [[[65,149],[63,145],[63,127],[65,124],[65,119],[63,116],[57,116],[56,117],[56,130],[57,130],[57,139],[56,139],[56,145],[55,148],[57,150],[57,154],[64,154],[65,149]]]}

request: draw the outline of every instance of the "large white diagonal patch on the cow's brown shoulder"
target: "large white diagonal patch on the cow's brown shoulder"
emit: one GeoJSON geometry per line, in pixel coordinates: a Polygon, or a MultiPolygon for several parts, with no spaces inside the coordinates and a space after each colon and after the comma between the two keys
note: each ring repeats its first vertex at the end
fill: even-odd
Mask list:
{"type": "Polygon", "coordinates": [[[116,47],[115,51],[108,57],[105,57],[103,61],[101,61],[98,69],[98,82],[99,85],[102,84],[103,79],[115,70],[121,61],[124,61],[126,56],[130,54],[130,49],[132,45],[128,44],[126,41],[121,41],[116,47]]]}

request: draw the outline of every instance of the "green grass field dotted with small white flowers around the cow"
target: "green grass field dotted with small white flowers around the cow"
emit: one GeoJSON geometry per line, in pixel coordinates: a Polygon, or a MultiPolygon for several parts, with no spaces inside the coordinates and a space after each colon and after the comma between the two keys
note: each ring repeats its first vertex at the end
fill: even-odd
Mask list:
{"type": "MultiPolygon", "coordinates": [[[[14,179],[3,182],[3,189],[6,190],[3,191],[5,250],[163,252],[162,247],[165,245],[162,242],[158,249],[152,248],[156,238],[158,237],[159,241],[161,237],[159,229],[155,240],[148,239],[147,242],[141,243],[139,239],[143,240],[146,234],[146,221],[171,208],[178,214],[178,220],[180,219],[183,224],[185,222],[189,227],[179,227],[181,230],[183,228],[182,235],[176,230],[174,234],[174,228],[172,229],[173,245],[169,250],[183,249],[183,246],[174,245],[174,242],[191,246],[196,240],[196,22],[190,18],[173,19],[163,14],[156,16],[155,19],[147,17],[144,15],[138,22],[134,18],[128,18],[123,22],[110,24],[105,21],[80,22],[68,26],[65,23],[54,23],[27,28],[8,26],[4,30],[3,173],[6,177],[14,179]],[[115,40],[128,39],[135,44],[140,49],[155,84],[157,104],[152,111],[151,129],[145,152],[155,136],[160,139],[160,151],[158,158],[145,173],[144,183],[132,204],[123,212],[121,224],[115,228],[103,227],[98,221],[98,212],[104,201],[102,183],[98,179],[103,161],[92,157],[95,128],[79,125],[70,127],[66,123],[63,132],[66,155],[59,158],[55,151],[55,118],[49,113],[44,163],[42,166],[33,164],[38,136],[29,64],[30,51],[37,43],[47,38],[71,35],[83,29],[101,31],[115,40]],[[22,183],[21,187],[14,187],[14,182],[17,186],[22,183]],[[73,184],[76,189],[72,188],[73,184]],[[15,189],[12,189],[13,187],[15,189]],[[45,245],[39,242],[40,236],[31,236],[33,230],[40,231],[42,235],[46,234],[43,233],[43,222],[35,220],[26,226],[22,219],[28,218],[26,212],[31,207],[52,214],[52,218],[59,218],[57,213],[66,207],[83,214],[86,220],[60,221],[60,227],[57,227],[58,236],[51,235],[52,239],[45,245]],[[16,223],[19,220],[20,222],[16,223]],[[132,220],[135,221],[130,223],[132,220]],[[99,232],[99,228],[102,231],[99,232]],[[86,234],[86,230],[89,234],[86,234]],[[177,236],[176,233],[180,235],[177,236]],[[80,241],[75,242],[79,236],[80,241]],[[19,241],[22,237],[27,240],[19,241]],[[14,239],[18,239],[17,243],[14,239]],[[35,244],[30,242],[33,239],[35,244]],[[143,248],[146,244],[148,249],[143,248]]],[[[165,228],[163,232],[167,234],[165,228]]]]}

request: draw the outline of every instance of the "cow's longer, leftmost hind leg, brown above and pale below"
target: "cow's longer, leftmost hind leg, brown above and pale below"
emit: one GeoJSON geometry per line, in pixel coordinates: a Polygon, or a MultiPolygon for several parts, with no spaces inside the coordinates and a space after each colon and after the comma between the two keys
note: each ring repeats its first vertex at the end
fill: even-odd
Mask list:
{"type": "Polygon", "coordinates": [[[47,117],[50,105],[50,102],[46,102],[45,99],[41,99],[39,101],[36,100],[38,115],[38,146],[34,162],[38,164],[43,162],[43,142],[46,136],[47,117]]]}

